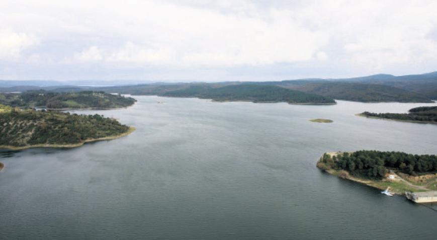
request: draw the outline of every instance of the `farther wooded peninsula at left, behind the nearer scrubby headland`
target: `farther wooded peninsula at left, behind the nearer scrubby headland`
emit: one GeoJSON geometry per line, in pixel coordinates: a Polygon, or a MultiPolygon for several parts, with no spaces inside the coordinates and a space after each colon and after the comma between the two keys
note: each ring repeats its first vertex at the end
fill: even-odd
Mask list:
{"type": "Polygon", "coordinates": [[[128,107],[135,101],[133,98],[95,91],[75,93],[28,91],[21,94],[0,94],[0,104],[28,108],[37,106],[45,106],[49,109],[121,108],[128,107]]]}

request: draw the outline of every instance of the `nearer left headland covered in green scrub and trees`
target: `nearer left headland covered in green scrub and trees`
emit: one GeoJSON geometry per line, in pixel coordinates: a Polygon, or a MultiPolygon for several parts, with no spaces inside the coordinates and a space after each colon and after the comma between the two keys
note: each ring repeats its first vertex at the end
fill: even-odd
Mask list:
{"type": "Polygon", "coordinates": [[[101,115],[21,110],[0,105],[0,145],[74,144],[117,136],[129,127],[101,115]]]}

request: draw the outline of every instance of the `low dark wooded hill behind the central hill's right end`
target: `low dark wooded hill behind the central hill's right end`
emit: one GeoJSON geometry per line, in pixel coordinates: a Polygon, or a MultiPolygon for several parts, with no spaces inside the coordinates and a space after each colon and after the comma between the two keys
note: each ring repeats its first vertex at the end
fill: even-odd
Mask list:
{"type": "Polygon", "coordinates": [[[429,98],[423,97],[417,93],[377,84],[319,82],[308,84],[290,83],[284,87],[328,98],[356,102],[432,102],[429,98]]]}

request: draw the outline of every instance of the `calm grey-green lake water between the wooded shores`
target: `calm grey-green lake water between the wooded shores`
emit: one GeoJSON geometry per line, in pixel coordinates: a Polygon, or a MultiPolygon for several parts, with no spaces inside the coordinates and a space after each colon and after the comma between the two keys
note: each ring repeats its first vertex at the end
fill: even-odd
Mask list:
{"type": "Polygon", "coordinates": [[[426,104],[135,98],[77,111],[136,127],[129,136],[0,152],[1,239],[435,239],[437,206],[315,168],[325,151],[437,154],[437,125],[354,116],[426,104]]]}

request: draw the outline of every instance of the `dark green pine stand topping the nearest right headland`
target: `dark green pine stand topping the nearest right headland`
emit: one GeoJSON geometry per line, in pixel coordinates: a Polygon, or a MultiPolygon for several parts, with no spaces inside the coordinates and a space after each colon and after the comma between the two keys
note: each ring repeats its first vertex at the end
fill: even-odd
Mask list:
{"type": "Polygon", "coordinates": [[[382,179],[389,170],[409,175],[437,171],[437,155],[414,155],[396,151],[361,150],[323,154],[320,162],[329,169],[345,170],[356,177],[382,179]]]}

